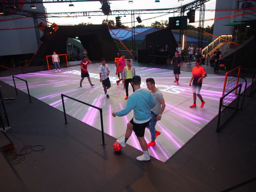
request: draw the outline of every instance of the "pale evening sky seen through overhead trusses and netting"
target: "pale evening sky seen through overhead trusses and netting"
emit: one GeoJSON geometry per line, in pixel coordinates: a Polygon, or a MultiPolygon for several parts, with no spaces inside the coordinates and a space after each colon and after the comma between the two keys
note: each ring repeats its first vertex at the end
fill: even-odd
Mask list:
{"type": "MultiPolygon", "coordinates": [[[[178,2],[178,0],[160,0],[159,3],[155,3],[155,0],[133,0],[134,3],[128,3],[128,0],[120,1],[109,1],[111,10],[139,10],[139,9],[163,9],[163,8],[175,8],[187,3],[193,2],[194,0],[184,0],[183,2],[178,2]]],[[[206,3],[206,9],[215,9],[216,0],[210,0],[206,3]]],[[[94,2],[72,2],[74,7],[69,7],[70,3],[43,3],[47,13],[63,13],[63,12],[79,12],[79,11],[101,11],[101,3],[98,1],[94,2]]],[[[214,18],[214,11],[206,11],[205,19],[214,18]]],[[[185,13],[186,15],[186,13],[185,13]]],[[[106,15],[104,16],[88,16],[85,17],[60,17],[60,18],[48,18],[50,23],[56,23],[57,25],[74,25],[79,23],[92,23],[92,24],[102,24],[103,19],[113,19],[115,22],[115,17],[118,15],[106,15]]],[[[119,15],[122,16],[122,15],[119,15]]],[[[142,23],[138,23],[135,19],[136,25],[145,25],[150,26],[151,23],[161,20],[169,20],[169,17],[178,16],[178,13],[172,14],[136,14],[135,18],[139,16],[142,20],[142,23]],[[159,17],[160,16],[160,17],[159,17]],[[153,18],[156,17],[156,18],[153,18]]],[[[199,20],[199,11],[195,13],[195,21],[199,20]]],[[[131,16],[126,15],[126,17],[121,17],[121,23],[123,25],[131,27],[131,16]]],[[[190,23],[191,25],[198,26],[198,22],[190,23]]],[[[213,21],[205,22],[205,27],[207,25],[212,25],[213,21]]]]}

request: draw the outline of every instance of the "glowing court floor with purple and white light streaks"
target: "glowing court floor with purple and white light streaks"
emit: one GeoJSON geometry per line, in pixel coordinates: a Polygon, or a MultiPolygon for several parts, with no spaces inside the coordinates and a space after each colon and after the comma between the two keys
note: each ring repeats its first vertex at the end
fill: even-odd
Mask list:
{"type": "MultiPolygon", "coordinates": [[[[40,71],[16,75],[27,80],[30,94],[41,101],[63,111],[61,94],[68,95],[80,101],[101,107],[103,109],[104,132],[122,139],[125,134],[126,124],[133,117],[130,112],[125,117],[112,117],[112,112],[122,109],[126,105],[125,89],[123,84],[116,84],[118,79],[115,75],[115,65],[110,66],[110,81],[112,87],[107,91],[110,98],[107,99],[102,83],[99,82],[98,67],[101,63],[94,63],[88,66],[90,78],[95,86],[91,87],[87,78],[84,79],[82,87],[79,87],[81,73],[80,66],[72,66],[61,69],[61,72],[40,71]]],[[[142,88],[146,88],[146,78],[154,78],[156,86],[161,90],[165,99],[166,108],[156,129],[161,135],[156,139],[156,145],[149,147],[151,156],[165,162],[171,155],[180,149],[190,138],[211,121],[218,113],[219,98],[222,95],[224,76],[208,74],[203,79],[201,95],[206,102],[200,108],[201,102],[197,98],[197,107],[190,108],[193,104],[191,87],[189,81],[191,72],[181,72],[179,85],[174,83],[174,74],[171,70],[156,69],[147,67],[135,67],[136,75],[142,79],[142,88]]],[[[0,78],[2,81],[14,86],[11,76],[0,78]]],[[[24,81],[15,79],[18,89],[27,93],[24,81]]],[[[129,95],[133,93],[129,86],[129,95]]],[[[100,114],[97,109],[75,102],[69,98],[64,98],[66,113],[77,118],[99,130],[101,130],[100,114]]],[[[64,117],[63,117],[64,122],[64,117]]],[[[213,130],[214,131],[214,130],[213,130]]],[[[150,131],[146,129],[145,139],[151,141],[150,131]]],[[[137,138],[133,133],[127,143],[142,150],[137,138]]],[[[112,147],[112,144],[107,145],[112,147]]],[[[125,150],[125,149],[123,149],[125,150]]]]}

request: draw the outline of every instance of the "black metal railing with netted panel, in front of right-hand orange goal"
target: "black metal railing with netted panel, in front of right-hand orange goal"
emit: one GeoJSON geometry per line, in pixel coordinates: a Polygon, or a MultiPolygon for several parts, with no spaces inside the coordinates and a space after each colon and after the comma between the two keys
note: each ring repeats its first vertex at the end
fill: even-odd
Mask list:
{"type": "MultiPolygon", "coordinates": [[[[231,118],[231,116],[238,110],[239,99],[241,94],[242,84],[234,87],[224,96],[219,99],[219,113],[218,113],[218,123],[216,132],[219,132],[223,125],[231,118]],[[239,88],[239,93],[234,92],[239,88]],[[226,99],[225,99],[226,98],[226,99]],[[225,99],[225,100],[224,100],[225,99]],[[237,103],[235,103],[237,102],[237,103]]],[[[245,91],[243,92],[243,94],[245,91]]]]}

